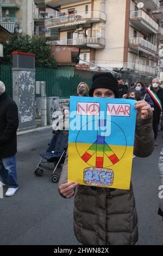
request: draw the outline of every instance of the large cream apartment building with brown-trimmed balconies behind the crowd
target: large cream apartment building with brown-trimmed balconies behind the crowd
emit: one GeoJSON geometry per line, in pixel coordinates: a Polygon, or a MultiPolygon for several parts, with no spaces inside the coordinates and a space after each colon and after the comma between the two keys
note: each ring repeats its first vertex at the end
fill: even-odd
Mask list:
{"type": "Polygon", "coordinates": [[[158,0],[45,0],[45,4],[58,11],[58,17],[45,21],[47,29],[59,30],[53,44],[77,45],[80,58],[110,70],[123,68],[126,80],[155,76],[163,36],[155,15],[158,0]]]}

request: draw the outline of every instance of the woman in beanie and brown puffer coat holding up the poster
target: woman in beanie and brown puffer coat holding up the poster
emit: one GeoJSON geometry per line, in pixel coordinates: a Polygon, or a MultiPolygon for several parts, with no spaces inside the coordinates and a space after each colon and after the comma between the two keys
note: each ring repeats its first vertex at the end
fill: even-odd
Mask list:
{"type": "MultiPolygon", "coordinates": [[[[110,73],[96,74],[89,94],[90,97],[118,98],[116,79],[110,73]]],[[[135,103],[135,109],[134,155],[148,157],[154,150],[152,109],[143,100],[135,103]]],[[[83,245],[135,245],[138,230],[132,184],[130,190],[79,185],[67,182],[67,168],[68,157],[62,169],[59,192],[64,198],[71,198],[77,190],[74,233],[78,241],[83,245]]]]}

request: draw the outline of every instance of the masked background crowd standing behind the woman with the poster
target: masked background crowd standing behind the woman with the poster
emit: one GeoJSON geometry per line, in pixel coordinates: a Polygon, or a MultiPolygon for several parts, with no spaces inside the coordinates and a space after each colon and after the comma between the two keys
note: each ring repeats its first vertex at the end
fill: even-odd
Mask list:
{"type": "MultiPolygon", "coordinates": [[[[158,129],[163,106],[163,84],[160,83],[159,78],[154,78],[151,84],[144,84],[141,81],[131,83],[130,87],[124,84],[122,78],[118,78],[117,84],[118,97],[121,99],[133,99],[136,101],[144,100],[152,107],[155,146],[158,146],[156,138],[158,136],[158,129]]],[[[82,82],[78,85],[76,95],[89,96],[89,87],[85,82],[82,82]]],[[[163,127],[161,127],[161,130],[162,129],[163,127]]]]}

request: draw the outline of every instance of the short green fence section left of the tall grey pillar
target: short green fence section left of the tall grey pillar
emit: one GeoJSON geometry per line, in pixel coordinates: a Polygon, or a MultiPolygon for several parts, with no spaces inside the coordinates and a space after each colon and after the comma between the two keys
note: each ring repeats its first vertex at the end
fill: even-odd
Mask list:
{"type": "Polygon", "coordinates": [[[0,65],[0,80],[5,84],[6,92],[12,97],[12,66],[0,65]]]}

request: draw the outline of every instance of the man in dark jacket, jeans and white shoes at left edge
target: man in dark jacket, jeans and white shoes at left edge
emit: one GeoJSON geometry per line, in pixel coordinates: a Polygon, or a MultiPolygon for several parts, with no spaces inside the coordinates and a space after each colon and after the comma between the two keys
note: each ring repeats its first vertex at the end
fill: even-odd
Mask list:
{"type": "Polygon", "coordinates": [[[16,152],[18,109],[16,103],[5,92],[0,81],[0,186],[9,186],[5,196],[13,196],[18,189],[16,152]]]}

